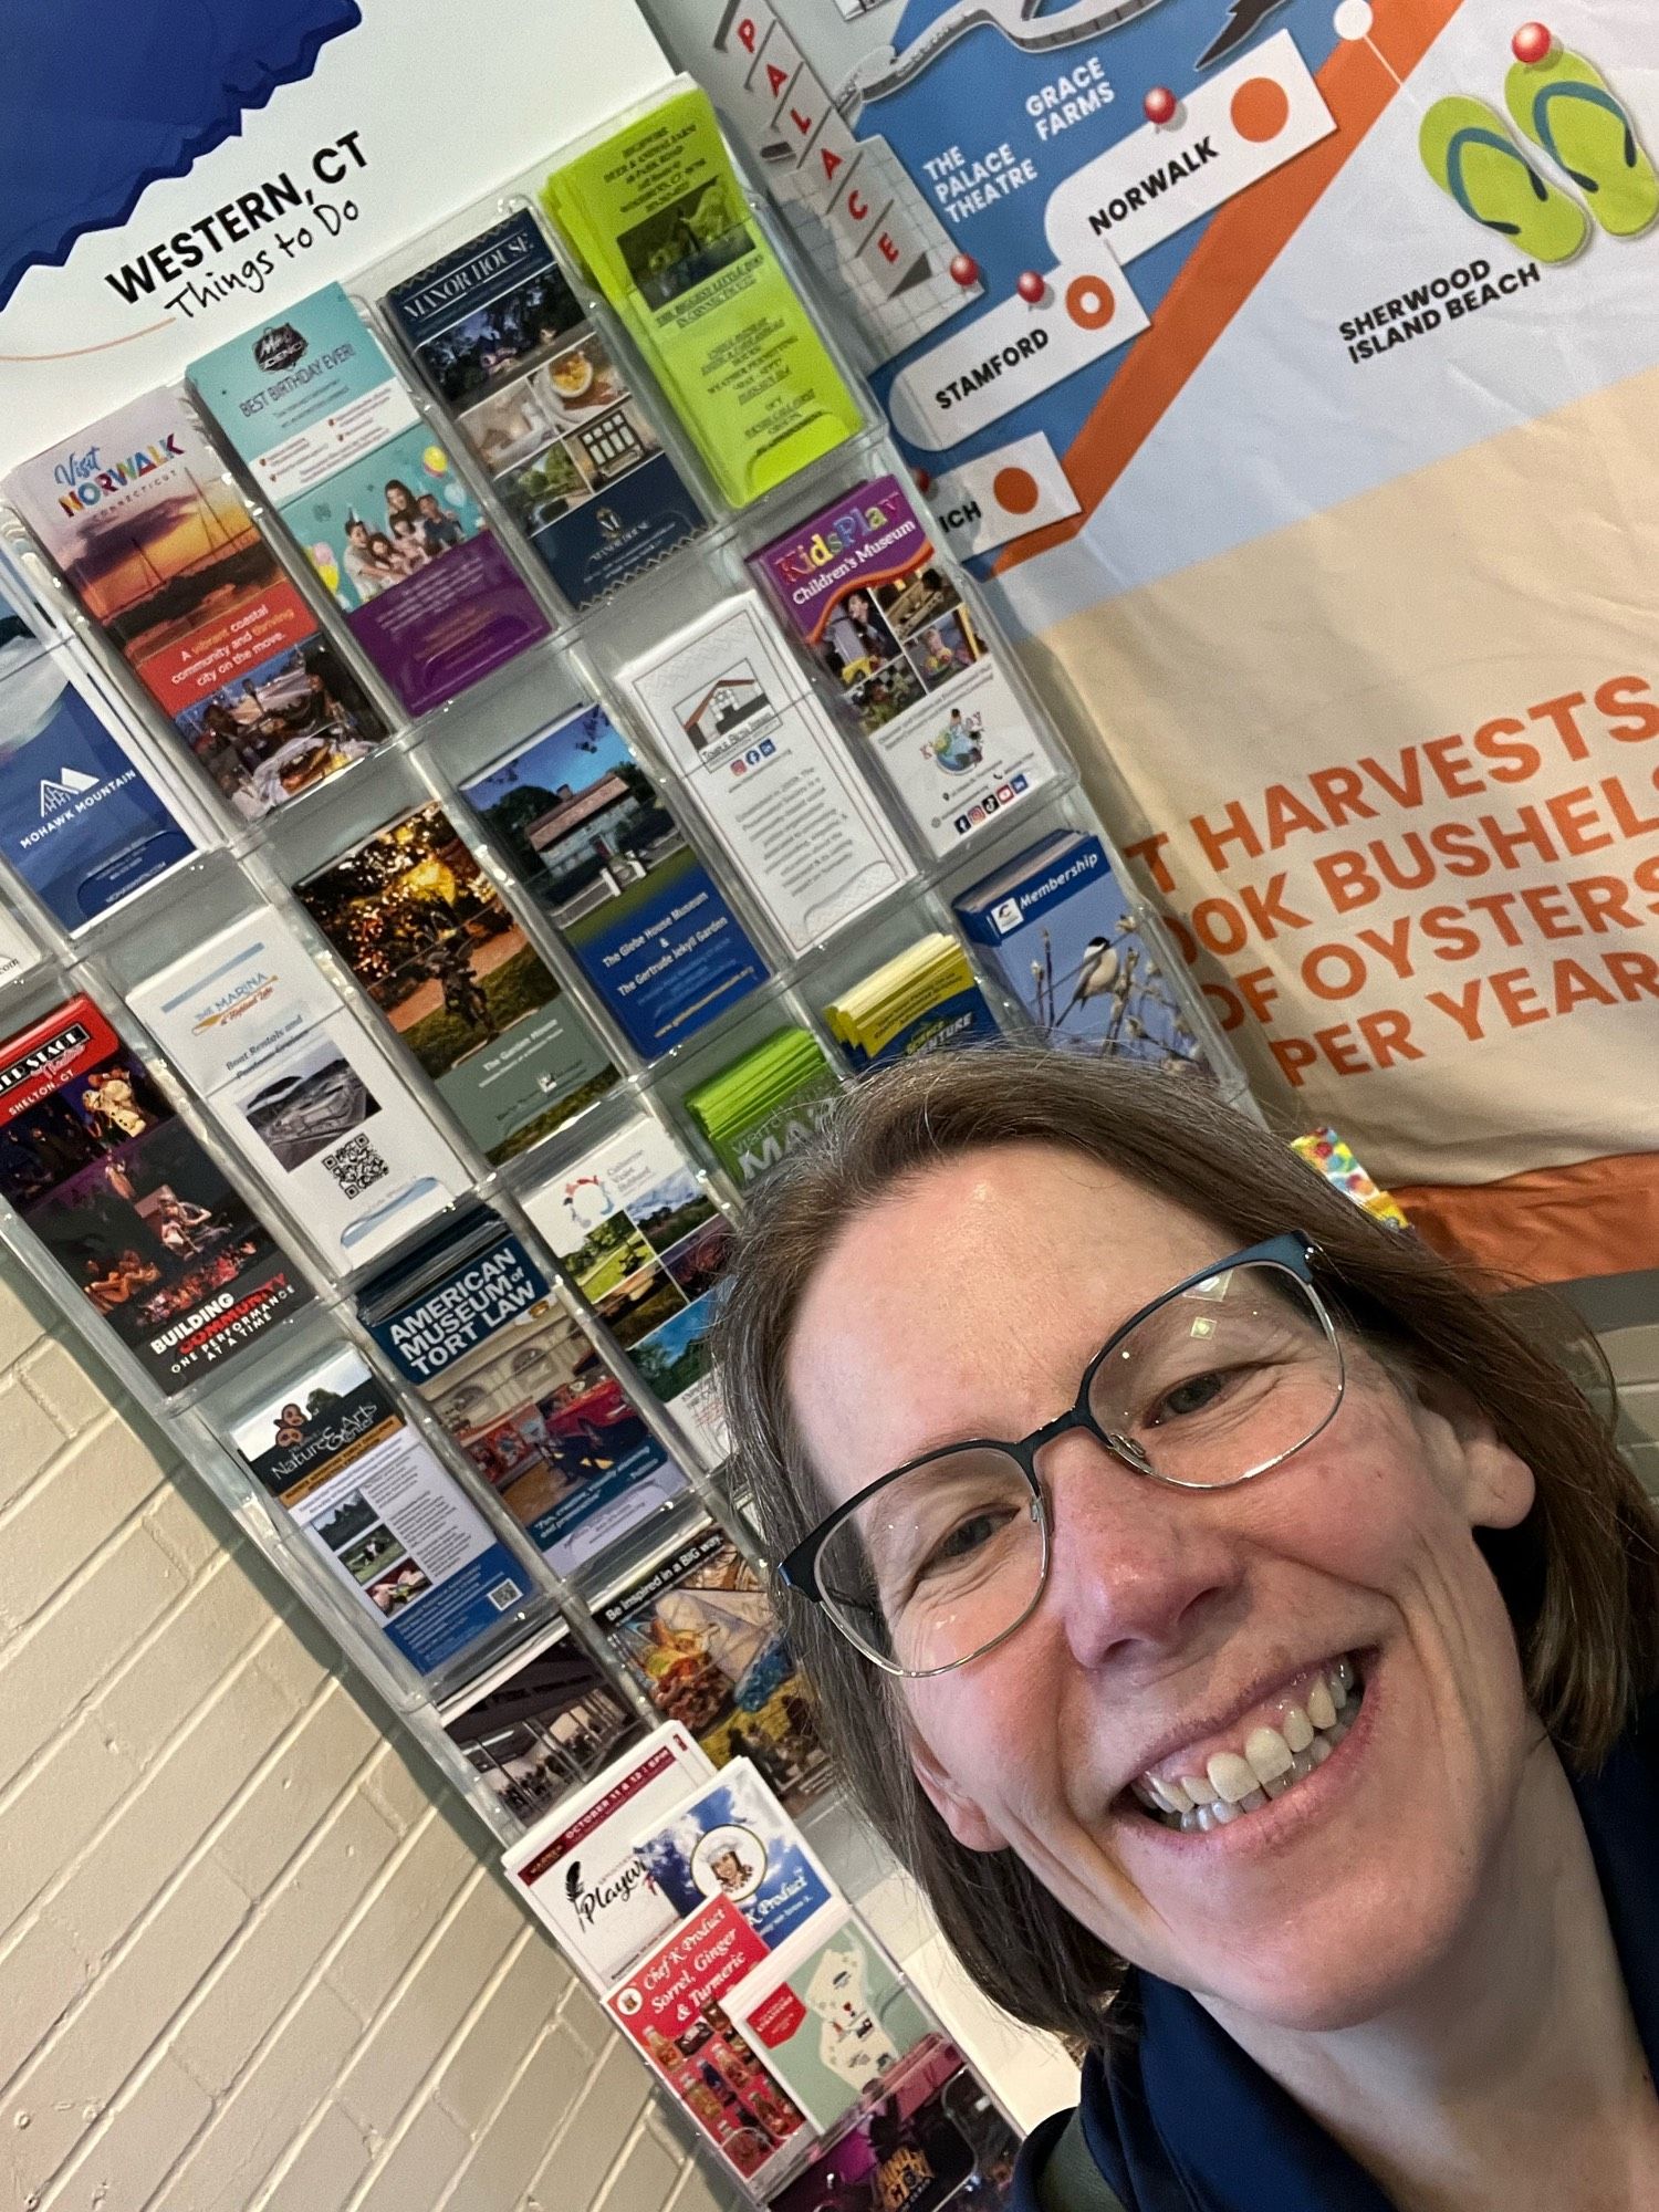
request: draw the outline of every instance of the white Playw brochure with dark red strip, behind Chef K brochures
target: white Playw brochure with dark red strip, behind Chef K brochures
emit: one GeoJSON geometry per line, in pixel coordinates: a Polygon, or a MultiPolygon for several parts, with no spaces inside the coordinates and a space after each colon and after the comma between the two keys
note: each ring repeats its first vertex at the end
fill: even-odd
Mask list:
{"type": "Polygon", "coordinates": [[[619,1982],[675,1927],[675,1907],[635,1858],[630,1836],[708,1774],[708,1759],[670,1721],[502,1854],[511,1887],[595,1989],[619,1982]]]}

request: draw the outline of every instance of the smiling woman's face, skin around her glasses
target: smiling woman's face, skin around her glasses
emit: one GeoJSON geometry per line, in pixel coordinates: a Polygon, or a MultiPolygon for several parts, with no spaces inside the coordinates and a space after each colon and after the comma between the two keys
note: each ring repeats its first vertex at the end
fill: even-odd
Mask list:
{"type": "MultiPolygon", "coordinates": [[[[929,1168],[843,1230],[801,1303],[790,1398],[827,1493],[1053,1420],[1115,1327],[1234,1245],[1051,1146],[929,1168]]],[[[1473,1535],[1526,1515],[1531,1471],[1458,1394],[1356,1345],[1347,1376],[1329,1427],[1234,1489],[1051,1442],[1037,1610],[900,1686],[960,1843],[1013,1849],[1135,1964],[1294,2028],[1369,2020],[1447,1955],[1537,1736],[1473,1535]],[[1183,1776],[1225,1803],[1274,1739],[1296,1767],[1250,1809],[1170,1823],[1183,1776]]]]}

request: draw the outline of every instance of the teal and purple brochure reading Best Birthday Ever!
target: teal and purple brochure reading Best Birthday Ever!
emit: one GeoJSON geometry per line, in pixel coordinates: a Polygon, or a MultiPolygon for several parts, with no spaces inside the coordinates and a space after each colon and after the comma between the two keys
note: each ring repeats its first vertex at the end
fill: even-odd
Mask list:
{"type": "Polygon", "coordinates": [[[385,347],[325,285],[190,365],[190,385],[411,714],[549,624],[385,347]]]}

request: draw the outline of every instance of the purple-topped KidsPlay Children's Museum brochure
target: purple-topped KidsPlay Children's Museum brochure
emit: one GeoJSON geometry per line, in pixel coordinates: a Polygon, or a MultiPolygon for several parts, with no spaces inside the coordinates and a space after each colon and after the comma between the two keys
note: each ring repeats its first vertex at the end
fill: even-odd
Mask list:
{"type": "Polygon", "coordinates": [[[754,560],[933,856],[1055,763],[898,478],[823,507],[754,560]]]}

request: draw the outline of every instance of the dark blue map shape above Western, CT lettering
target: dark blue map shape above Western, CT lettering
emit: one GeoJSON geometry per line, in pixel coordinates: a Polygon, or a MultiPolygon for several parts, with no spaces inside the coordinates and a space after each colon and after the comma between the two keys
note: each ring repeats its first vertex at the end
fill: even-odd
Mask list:
{"type": "Polygon", "coordinates": [[[361,22],[358,0],[0,0],[0,307],[361,22]]]}

